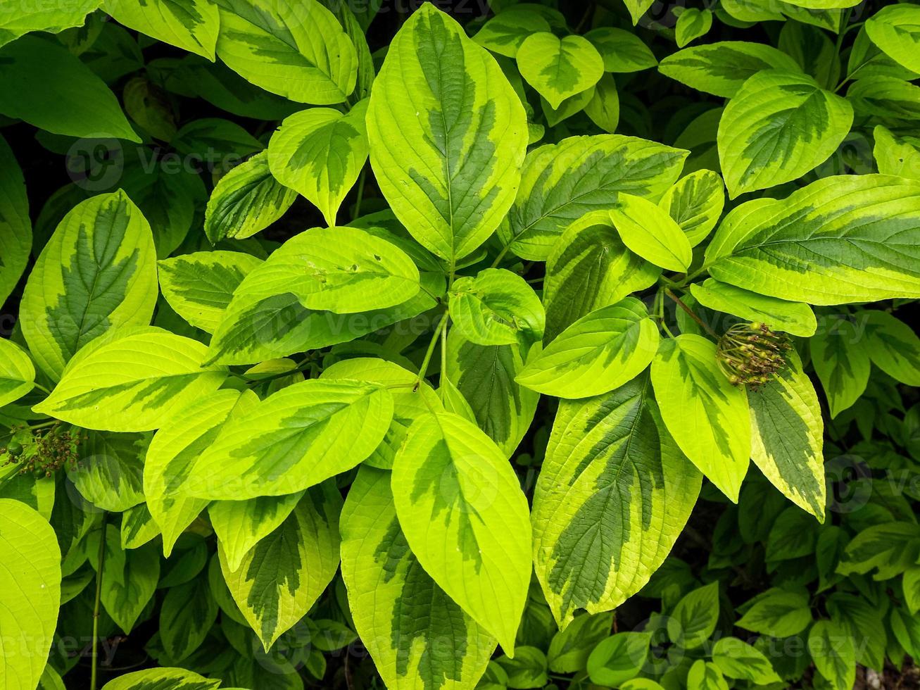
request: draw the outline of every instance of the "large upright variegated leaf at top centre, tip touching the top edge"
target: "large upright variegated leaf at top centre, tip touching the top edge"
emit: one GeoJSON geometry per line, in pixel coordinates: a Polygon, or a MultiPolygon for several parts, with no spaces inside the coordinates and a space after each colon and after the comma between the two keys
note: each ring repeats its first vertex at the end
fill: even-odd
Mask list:
{"type": "Polygon", "coordinates": [[[479,247],[514,200],[527,144],[521,101],[494,58],[431,3],[390,43],[367,133],[386,200],[443,259],[479,247]]]}

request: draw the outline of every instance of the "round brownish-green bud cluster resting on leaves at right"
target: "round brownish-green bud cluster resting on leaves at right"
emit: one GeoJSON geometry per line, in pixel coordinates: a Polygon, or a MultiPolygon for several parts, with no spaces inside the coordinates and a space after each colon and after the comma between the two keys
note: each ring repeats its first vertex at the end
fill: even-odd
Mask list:
{"type": "Polygon", "coordinates": [[[785,333],[776,333],[764,323],[735,324],[719,339],[719,369],[731,385],[756,388],[786,367],[791,348],[785,333]]]}

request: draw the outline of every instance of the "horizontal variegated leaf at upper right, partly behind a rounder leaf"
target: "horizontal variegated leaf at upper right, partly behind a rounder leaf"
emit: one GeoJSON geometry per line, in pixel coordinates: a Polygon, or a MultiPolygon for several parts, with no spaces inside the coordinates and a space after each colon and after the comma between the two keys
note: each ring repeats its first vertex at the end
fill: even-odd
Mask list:
{"type": "Polygon", "coordinates": [[[661,61],[662,75],[707,94],[733,97],[745,81],[763,70],[799,72],[799,64],[785,52],[764,43],[722,40],[684,48],[661,61]]]}

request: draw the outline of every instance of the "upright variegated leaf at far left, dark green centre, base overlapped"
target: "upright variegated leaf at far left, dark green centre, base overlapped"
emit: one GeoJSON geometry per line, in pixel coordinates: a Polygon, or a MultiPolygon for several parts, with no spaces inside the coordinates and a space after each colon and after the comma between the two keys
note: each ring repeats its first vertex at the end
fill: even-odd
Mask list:
{"type": "Polygon", "coordinates": [[[76,351],[109,328],[148,324],[156,302],[150,225],[123,191],[64,215],[22,295],[29,351],[54,380],[76,351]]]}

